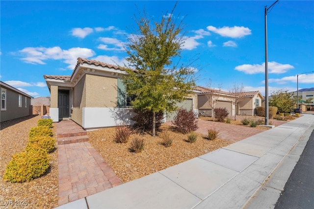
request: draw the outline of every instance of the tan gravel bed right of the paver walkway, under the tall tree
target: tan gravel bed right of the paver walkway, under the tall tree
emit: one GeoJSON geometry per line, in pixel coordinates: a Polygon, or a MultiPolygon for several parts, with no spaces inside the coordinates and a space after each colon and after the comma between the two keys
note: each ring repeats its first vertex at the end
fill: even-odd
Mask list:
{"type": "MultiPolygon", "coordinates": [[[[161,131],[171,129],[170,126],[161,126],[161,131]]],[[[113,141],[115,128],[106,128],[97,131],[88,131],[89,142],[105,159],[108,165],[121,179],[123,183],[155,173],[170,166],[179,164],[209,153],[213,150],[232,144],[233,142],[222,139],[208,140],[202,134],[198,134],[195,143],[187,142],[184,134],[172,131],[173,142],[171,147],[161,145],[159,137],[152,137],[145,133],[139,137],[146,140],[145,149],[141,153],[132,153],[130,143],[121,144],[113,141]]],[[[133,135],[133,137],[136,135],[133,135]]]]}

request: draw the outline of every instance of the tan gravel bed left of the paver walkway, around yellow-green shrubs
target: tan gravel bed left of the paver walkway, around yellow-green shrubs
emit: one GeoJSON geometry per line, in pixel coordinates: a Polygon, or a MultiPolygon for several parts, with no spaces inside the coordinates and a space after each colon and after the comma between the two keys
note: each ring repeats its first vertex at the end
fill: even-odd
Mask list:
{"type": "MultiPolygon", "coordinates": [[[[41,208],[58,206],[58,157],[57,150],[50,154],[48,172],[30,182],[10,183],[2,180],[6,164],[15,153],[26,148],[28,132],[37,126],[40,116],[23,117],[1,123],[0,131],[0,208],[41,208]]],[[[55,127],[52,128],[55,133],[55,127]]]]}

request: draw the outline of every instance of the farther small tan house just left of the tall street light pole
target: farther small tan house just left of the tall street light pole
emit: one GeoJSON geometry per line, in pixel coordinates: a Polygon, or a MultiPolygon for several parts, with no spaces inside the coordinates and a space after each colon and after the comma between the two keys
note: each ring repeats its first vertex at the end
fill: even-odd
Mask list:
{"type": "Polygon", "coordinates": [[[242,92],[243,100],[238,104],[238,115],[256,115],[256,107],[262,106],[263,96],[259,91],[242,92]]]}

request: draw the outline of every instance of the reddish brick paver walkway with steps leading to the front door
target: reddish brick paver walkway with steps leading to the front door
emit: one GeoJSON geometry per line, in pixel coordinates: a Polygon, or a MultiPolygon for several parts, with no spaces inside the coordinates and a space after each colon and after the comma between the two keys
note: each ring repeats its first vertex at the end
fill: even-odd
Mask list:
{"type": "Polygon", "coordinates": [[[59,206],[122,182],[88,142],[86,131],[71,120],[56,124],[59,206]]]}

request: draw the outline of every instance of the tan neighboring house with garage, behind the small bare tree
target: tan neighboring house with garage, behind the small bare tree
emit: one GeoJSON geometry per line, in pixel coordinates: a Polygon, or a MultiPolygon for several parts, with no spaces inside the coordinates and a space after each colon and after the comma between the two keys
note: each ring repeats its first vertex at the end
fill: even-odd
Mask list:
{"type": "MultiPolygon", "coordinates": [[[[209,105],[209,101],[206,97],[206,95],[209,94],[210,91],[214,89],[202,87],[202,86],[196,86],[193,88],[194,90],[198,91],[197,95],[197,101],[198,101],[198,111],[200,115],[205,115],[205,116],[212,116],[211,112],[212,109],[209,105]]],[[[227,110],[229,111],[229,115],[235,115],[235,105],[232,104],[231,99],[234,97],[231,93],[225,92],[225,91],[219,91],[219,90],[214,90],[215,95],[217,94],[217,104],[215,105],[215,108],[218,107],[226,107],[227,110]]]]}

